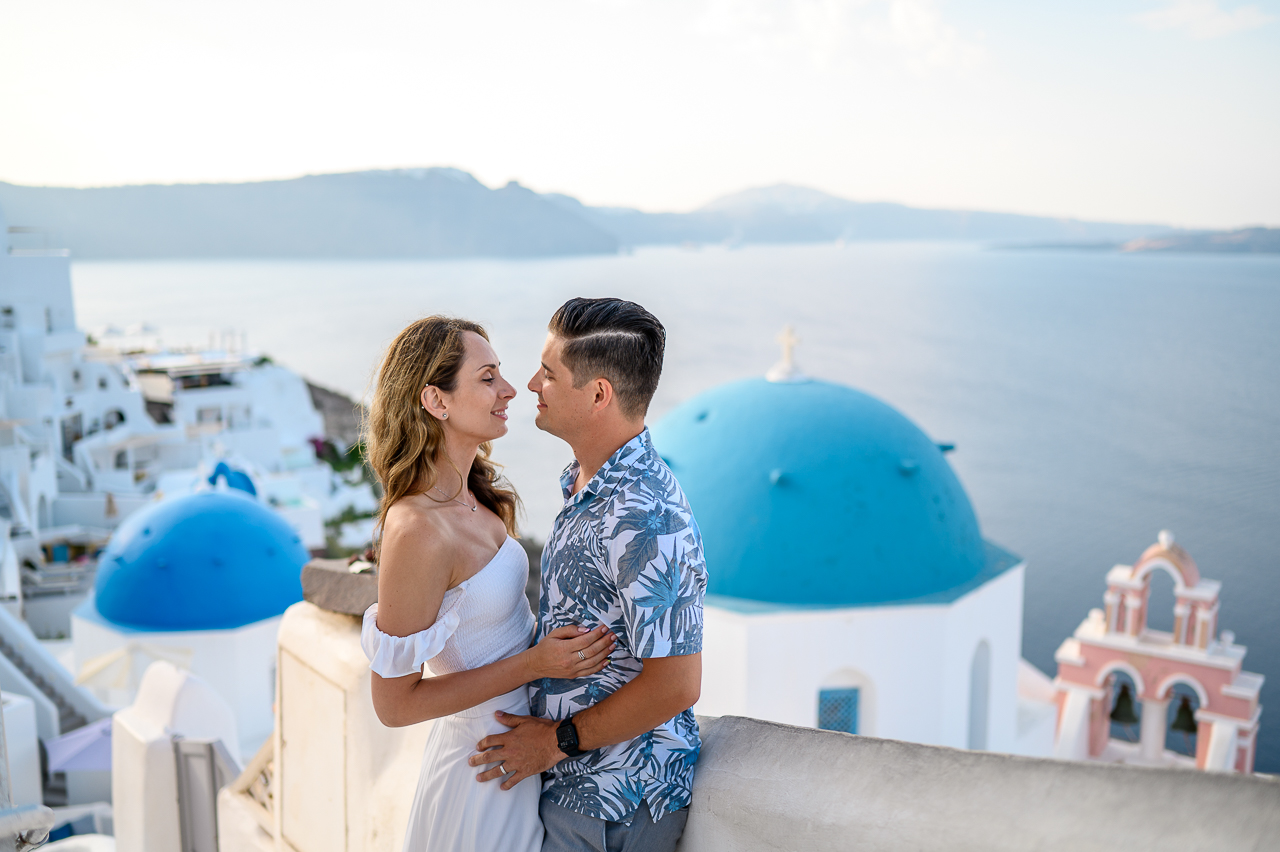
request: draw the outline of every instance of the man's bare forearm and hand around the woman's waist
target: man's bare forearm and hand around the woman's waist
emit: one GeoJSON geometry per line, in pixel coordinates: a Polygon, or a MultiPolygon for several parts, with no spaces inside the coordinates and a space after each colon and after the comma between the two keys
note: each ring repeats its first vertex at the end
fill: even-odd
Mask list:
{"type": "MultiPolygon", "coordinates": [[[[698,702],[703,682],[701,654],[655,656],[641,663],[640,674],[617,692],[573,714],[579,748],[591,751],[635,739],[698,702]]],[[[477,780],[507,775],[502,788],[511,789],[564,760],[564,752],[556,743],[559,722],[507,713],[499,713],[498,720],[511,730],[481,739],[480,753],[472,755],[468,762],[472,766],[499,765],[481,773],[477,780]]]]}

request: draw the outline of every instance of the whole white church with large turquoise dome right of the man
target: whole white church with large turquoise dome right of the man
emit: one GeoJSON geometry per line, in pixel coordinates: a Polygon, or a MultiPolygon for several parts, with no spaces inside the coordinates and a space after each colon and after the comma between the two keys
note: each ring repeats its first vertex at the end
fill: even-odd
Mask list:
{"type": "Polygon", "coordinates": [[[790,356],[653,439],[705,548],[699,713],[1052,752],[1052,687],[1021,659],[1025,563],[982,537],[950,448],[790,356]]]}

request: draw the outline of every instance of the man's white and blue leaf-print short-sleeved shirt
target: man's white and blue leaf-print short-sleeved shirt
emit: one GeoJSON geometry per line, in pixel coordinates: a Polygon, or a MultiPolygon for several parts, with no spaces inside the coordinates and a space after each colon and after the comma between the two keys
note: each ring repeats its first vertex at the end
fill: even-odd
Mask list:
{"type": "MultiPolygon", "coordinates": [[[[618,646],[598,674],[531,684],[532,713],[547,719],[602,701],[640,674],[645,659],[703,647],[703,541],[649,430],[572,494],[577,473],[575,461],[561,475],[564,508],[543,550],[538,638],[566,624],[607,624],[618,646]]],[[[685,710],[635,739],[562,760],[543,775],[543,796],[623,823],[644,801],[658,820],[689,805],[700,748],[698,722],[685,710]]]]}

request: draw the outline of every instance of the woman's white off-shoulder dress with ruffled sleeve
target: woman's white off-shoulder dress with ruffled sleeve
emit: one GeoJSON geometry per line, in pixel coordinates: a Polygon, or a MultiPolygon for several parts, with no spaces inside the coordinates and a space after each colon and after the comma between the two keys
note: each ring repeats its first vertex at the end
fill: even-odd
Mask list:
{"type": "MultiPolygon", "coordinates": [[[[435,624],[412,636],[378,629],[378,604],[365,611],[361,645],[370,668],[384,678],[420,672],[465,672],[518,654],[534,635],[534,614],[525,599],[529,556],[507,537],[497,555],[466,582],[444,594],[435,624]]],[[[500,782],[480,783],[480,768],[467,765],[476,743],[507,730],[497,710],[529,715],[529,688],[436,719],[422,753],[404,852],[539,852],[538,817],[541,782],[535,775],[504,791],[500,782]]]]}

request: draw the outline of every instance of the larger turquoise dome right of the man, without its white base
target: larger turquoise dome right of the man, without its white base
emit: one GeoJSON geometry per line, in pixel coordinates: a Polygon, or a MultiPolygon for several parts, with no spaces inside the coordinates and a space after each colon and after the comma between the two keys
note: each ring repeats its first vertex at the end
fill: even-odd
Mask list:
{"type": "Polygon", "coordinates": [[[667,414],[653,440],[701,530],[708,594],[791,606],[922,601],[988,568],[942,450],[851,388],[721,385],[667,414]]]}

